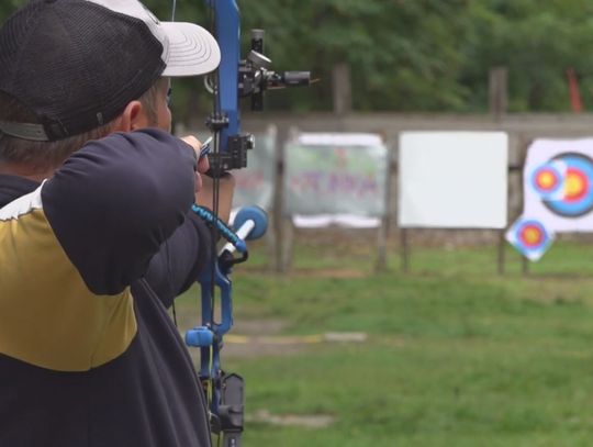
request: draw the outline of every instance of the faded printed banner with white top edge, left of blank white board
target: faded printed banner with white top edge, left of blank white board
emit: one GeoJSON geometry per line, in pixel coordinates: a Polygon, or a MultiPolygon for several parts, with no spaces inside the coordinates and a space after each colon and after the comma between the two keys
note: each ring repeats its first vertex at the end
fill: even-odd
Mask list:
{"type": "Polygon", "coordinates": [[[378,135],[301,134],[286,146],[286,212],[383,216],[387,170],[378,135]]]}

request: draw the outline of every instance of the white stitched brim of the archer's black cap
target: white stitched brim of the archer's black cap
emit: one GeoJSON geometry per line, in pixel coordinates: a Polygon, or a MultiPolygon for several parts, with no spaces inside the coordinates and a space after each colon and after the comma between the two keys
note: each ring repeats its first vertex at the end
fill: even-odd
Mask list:
{"type": "Polygon", "coordinates": [[[161,22],[160,25],[169,40],[169,57],[163,76],[205,75],[219,67],[219,44],[202,26],[183,22],[161,22]]]}

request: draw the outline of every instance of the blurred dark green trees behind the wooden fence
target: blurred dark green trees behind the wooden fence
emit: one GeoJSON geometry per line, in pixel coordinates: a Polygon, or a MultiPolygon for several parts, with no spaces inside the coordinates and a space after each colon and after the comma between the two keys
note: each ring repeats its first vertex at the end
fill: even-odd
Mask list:
{"type": "MultiPolygon", "coordinates": [[[[3,0],[0,19],[24,0],[3,0]]],[[[161,19],[171,3],[146,0],[161,19]]],[[[282,70],[311,70],[310,89],[267,96],[271,110],[331,110],[332,70],[350,68],[358,111],[485,112],[488,74],[508,68],[513,112],[569,111],[566,70],[593,108],[590,0],[250,0],[238,1],[249,30],[266,30],[266,54],[282,70]]],[[[176,20],[208,26],[202,0],[178,0],[176,20]]],[[[125,43],[122,43],[125,44],[125,43]]],[[[197,80],[176,81],[176,112],[209,110],[197,80]]]]}

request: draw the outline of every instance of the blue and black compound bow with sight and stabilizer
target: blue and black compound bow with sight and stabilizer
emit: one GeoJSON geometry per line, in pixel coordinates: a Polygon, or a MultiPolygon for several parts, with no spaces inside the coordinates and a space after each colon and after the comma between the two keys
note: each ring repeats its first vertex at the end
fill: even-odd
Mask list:
{"type": "MultiPolygon", "coordinates": [[[[236,373],[226,373],[221,367],[223,336],[233,325],[232,282],[230,275],[235,264],[247,259],[245,238],[264,235],[266,213],[258,208],[242,210],[235,217],[236,233],[217,217],[217,189],[220,177],[231,169],[247,166],[247,152],[255,146],[251,134],[240,133],[239,98],[250,97],[251,110],[264,108],[264,92],[271,87],[309,86],[309,71],[277,74],[270,69],[271,60],[264,52],[264,31],[251,31],[251,51],[240,58],[240,20],[235,0],[204,0],[214,18],[214,35],[221,47],[222,58],[216,74],[209,79],[208,88],[214,94],[214,111],[206,124],[213,133],[214,150],[210,154],[210,175],[214,178],[214,210],[193,206],[193,211],[214,228],[213,239],[223,236],[226,244],[213,256],[212,266],[200,278],[202,323],[188,331],[188,346],[200,347],[200,379],[204,385],[211,413],[212,432],[223,435],[225,447],[239,447],[244,415],[244,381],[236,373]],[[233,253],[242,253],[235,258],[233,253]],[[220,290],[216,302],[215,289],[220,290]],[[220,306],[220,322],[215,308],[220,306]]],[[[213,247],[213,254],[216,247],[213,247]]]]}

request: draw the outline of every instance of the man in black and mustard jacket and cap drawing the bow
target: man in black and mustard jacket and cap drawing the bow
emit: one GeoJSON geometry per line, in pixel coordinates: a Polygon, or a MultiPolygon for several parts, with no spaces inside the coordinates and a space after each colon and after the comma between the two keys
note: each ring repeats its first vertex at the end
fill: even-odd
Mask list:
{"type": "Polygon", "coordinates": [[[0,445],[210,446],[166,309],[211,257],[190,208],[212,186],[168,91],[219,60],[136,0],[35,0],[0,29],[0,445]]]}

